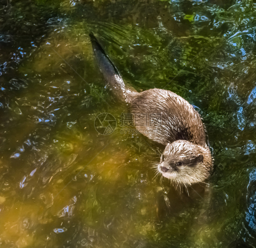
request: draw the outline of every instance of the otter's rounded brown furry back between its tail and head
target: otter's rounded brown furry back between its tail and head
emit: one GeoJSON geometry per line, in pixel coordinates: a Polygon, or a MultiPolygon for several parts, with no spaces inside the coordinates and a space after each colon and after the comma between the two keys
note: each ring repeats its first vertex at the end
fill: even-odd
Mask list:
{"type": "Polygon", "coordinates": [[[199,113],[188,101],[169,90],[150,89],[138,93],[132,98],[130,111],[136,116],[147,114],[147,125],[139,125],[135,120],[136,128],[160,144],[183,139],[206,146],[205,127],[199,113]],[[154,114],[159,114],[158,120],[154,114]]]}

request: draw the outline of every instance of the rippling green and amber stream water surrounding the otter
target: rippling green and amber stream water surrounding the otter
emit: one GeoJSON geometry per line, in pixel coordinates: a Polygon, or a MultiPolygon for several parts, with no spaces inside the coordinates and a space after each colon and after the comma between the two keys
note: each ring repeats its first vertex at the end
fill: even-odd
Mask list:
{"type": "Polygon", "coordinates": [[[255,34],[249,0],[1,0],[0,247],[256,247],[255,34]],[[214,173],[189,195],[121,125],[90,32],[125,82],[202,115],[214,173]]]}

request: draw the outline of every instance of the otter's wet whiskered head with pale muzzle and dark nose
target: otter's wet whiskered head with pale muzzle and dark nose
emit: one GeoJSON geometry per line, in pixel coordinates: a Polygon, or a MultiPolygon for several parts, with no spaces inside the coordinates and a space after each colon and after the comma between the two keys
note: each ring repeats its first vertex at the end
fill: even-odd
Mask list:
{"type": "Polygon", "coordinates": [[[210,175],[212,157],[208,147],[186,140],[168,143],[158,165],[158,171],[173,183],[191,185],[210,175]]]}

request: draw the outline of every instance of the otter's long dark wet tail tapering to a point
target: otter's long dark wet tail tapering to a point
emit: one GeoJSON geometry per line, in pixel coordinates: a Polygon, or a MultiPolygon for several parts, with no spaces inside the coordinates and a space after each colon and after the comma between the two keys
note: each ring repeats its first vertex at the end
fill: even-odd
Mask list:
{"type": "Polygon", "coordinates": [[[115,68],[115,65],[107,56],[96,37],[93,35],[92,32],[90,32],[89,35],[99,68],[104,78],[106,79],[110,90],[113,92],[118,101],[130,103],[132,95],[135,95],[137,91],[131,88],[128,89],[125,86],[124,81],[120,76],[118,70],[115,68]]]}

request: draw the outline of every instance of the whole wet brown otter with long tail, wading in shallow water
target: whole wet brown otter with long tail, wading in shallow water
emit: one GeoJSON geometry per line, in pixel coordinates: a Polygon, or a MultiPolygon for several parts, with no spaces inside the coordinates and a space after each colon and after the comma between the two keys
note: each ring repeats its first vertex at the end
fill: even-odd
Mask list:
{"type": "Polygon", "coordinates": [[[93,33],[89,36],[99,68],[115,98],[127,103],[134,116],[148,119],[147,123],[135,121],[136,129],[165,146],[157,172],[172,183],[185,186],[209,178],[213,160],[205,126],[194,107],[170,90],[137,92],[127,87],[96,37],[93,33]]]}

